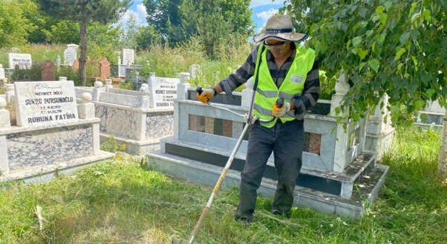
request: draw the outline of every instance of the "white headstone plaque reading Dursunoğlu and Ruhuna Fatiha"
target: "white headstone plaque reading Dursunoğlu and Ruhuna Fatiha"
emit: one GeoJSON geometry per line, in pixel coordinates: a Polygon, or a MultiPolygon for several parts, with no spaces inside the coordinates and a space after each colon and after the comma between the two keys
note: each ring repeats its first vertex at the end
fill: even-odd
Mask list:
{"type": "Polygon", "coordinates": [[[15,82],[14,86],[18,126],[78,120],[73,81],[15,82]]]}

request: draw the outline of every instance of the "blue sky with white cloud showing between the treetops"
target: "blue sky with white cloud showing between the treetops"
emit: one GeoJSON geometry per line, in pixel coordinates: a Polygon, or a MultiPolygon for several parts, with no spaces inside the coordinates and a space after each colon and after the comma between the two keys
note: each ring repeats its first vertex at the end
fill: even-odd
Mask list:
{"type": "MultiPolygon", "coordinates": [[[[268,18],[272,16],[272,14],[277,13],[278,9],[283,5],[283,0],[251,0],[251,4],[249,8],[253,10],[253,18],[254,23],[256,24],[255,32],[258,33],[265,26],[265,22],[267,22],[268,18]]],[[[127,12],[123,15],[121,22],[125,23],[129,18],[129,14],[133,13],[138,20],[138,24],[146,25],[146,8],[142,5],[141,0],[133,0],[133,5],[127,12]]]]}

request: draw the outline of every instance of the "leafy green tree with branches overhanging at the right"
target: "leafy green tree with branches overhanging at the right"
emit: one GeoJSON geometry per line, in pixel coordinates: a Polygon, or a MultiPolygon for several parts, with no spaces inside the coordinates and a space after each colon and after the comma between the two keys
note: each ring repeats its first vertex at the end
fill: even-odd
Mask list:
{"type": "MultiPolygon", "coordinates": [[[[349,74],[352,85],[341,108],[353,119],[384,93],[393,122],[402,114],[411,119],[427,100],[446,107],[447,1],[291,0],[284,10],[309,33],[306,44],[327,76],[349,74]]],[[[445,178],[441,161],[442,155],[439,175],[445,178]]]]}

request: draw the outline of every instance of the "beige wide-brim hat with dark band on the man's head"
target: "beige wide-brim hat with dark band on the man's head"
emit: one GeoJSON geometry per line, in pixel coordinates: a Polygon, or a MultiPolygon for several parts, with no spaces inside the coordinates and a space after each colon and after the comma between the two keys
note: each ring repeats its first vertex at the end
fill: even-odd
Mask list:
{"type": "Polygon", "coordinates": [[[293,31],[292,18],[288,15],[273,15],[265,24],[264,33],[253,36],[253,40],[258,43],[267,38],[277,38],[281,40],[302,40],[305,34],[293,31]]]}

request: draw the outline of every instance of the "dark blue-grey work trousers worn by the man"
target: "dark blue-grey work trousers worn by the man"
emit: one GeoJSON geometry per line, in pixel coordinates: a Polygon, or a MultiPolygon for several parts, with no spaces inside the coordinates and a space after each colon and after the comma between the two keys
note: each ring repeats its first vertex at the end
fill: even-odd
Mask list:
{"type": "Polygon", "coordinates": [[[253,220],[256,190],[261,185],[264,169],[272,151],[278,174],[272,211],[287,213],[291,210],[295,181],[302,165],[303,146],[303,121],[277,122],[272,128],[265,128],[258,122],[252,125],[249,132],[247,159],[244,170],[240,174],[242,181],[235,218],[253,220]]]}

